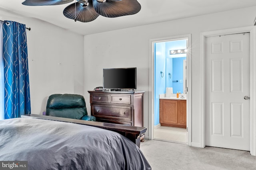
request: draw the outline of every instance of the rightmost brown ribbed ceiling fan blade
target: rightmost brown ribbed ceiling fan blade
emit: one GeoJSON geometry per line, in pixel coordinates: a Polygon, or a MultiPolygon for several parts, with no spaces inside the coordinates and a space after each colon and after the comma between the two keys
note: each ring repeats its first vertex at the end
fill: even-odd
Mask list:
{"type": "Polygon", "coordinates": [[[137,0],[106,0],[106,2],[93,0],[93,7],[98,14],[108,18],[137,14],[141,9],[137,0]]]}

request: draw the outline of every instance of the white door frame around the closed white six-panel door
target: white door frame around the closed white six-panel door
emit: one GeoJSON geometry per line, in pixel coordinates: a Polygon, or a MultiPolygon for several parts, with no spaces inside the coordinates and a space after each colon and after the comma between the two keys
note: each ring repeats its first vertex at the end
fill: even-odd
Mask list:
{"type": "Polygon", "coordinates": [[[239,27],[232,29],[223,29],[217,31],[208,31],[200,33],[200,84],[201,84],[201,116],[200,116],[200,140],[201,147],[205,147],[205,39],[210,36],[235,34],[235,33],[250,33],[250,154],[256,156],[256,28],[255,26],[239,27]]]}

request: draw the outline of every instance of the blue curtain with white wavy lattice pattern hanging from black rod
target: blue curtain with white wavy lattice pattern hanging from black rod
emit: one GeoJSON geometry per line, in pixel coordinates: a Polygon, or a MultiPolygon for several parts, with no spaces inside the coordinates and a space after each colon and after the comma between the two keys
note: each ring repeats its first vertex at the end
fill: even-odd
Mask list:
{"type": "Polygon", "coordinates": [[[26,25],[3,24],[4,119],[31,112],[26,25]]]}

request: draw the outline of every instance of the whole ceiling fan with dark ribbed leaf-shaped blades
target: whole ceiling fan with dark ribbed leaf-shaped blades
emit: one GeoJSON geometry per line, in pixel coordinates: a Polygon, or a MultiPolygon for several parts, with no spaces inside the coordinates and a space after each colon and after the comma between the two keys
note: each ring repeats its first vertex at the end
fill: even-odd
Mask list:
{"type": "MultiPolygon", "coordinates": [[[[48,6],[61,5],[73,2],[74,0],[25,0],[22,2],[26,6],[48,6]]],[[[90,22],[98,16],[116,18],[137,14],[140,3],[137,0],[75,0],[76,2],[67,6],[63,15],[66,18],[90,22]]]]}

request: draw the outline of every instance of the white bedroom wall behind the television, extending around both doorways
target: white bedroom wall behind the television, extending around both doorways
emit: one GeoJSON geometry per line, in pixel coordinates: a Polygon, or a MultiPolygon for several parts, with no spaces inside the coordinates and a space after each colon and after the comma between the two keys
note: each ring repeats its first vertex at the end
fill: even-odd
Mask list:
{"type": "MultiPolygon", "coordinates": [[[[117,31],[84,36],[85,92],[90,111],[88,90],[102,86],[102,68],[137,67],[137,90],[144,90],[144,126],[149,117],[150,39],[192,34],[192,143],[200,146],[201,80],[200,32],[252,26],[256,6],[216,14],[185,18],[117,31]]],[[[146,16],[145,16],[146,17],[146,16]]],[[[148,131],[146,133],[148,135],[148,131]]]]}

